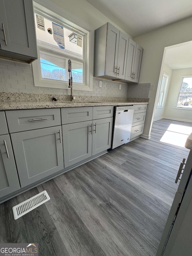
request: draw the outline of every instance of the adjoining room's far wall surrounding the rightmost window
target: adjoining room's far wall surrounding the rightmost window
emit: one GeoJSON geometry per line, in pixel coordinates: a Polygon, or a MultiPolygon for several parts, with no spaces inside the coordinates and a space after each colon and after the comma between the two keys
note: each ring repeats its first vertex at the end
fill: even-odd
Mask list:
{"type": "Polygon", "coordinates": [[[181,85],[182,75],[192,75],[192,68],[175,69],[172,73],[167,102],[163,116],[168,118],[192,121],[192,110],[175,109],[176,98],[181,85]]]}

